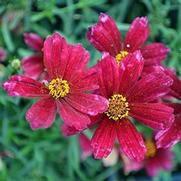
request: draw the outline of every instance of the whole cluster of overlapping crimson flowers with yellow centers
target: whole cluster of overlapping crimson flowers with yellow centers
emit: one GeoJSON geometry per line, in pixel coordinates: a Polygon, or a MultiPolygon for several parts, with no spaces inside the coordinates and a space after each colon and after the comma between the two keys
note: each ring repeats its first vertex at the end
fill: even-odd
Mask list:
{"type": "Polygon", "coordinates": [[[38,98],[26,113],[32,129],[50,127],[58,112],[64,135],[80,134],[84,157],[106,158],[116,147],[126,171],[145,165],[153,176],[171,168],[170,148],[181,140],[181,80],[162,65],[169,49],[145,45],[148,36],[146,17],[132,22],[123,41],[114,20],[101,13],[87,38],[102,58],[87,68],[89,52],[80,44],[58,33],[45,41],[27,33],[35,53],[22,60],[24,75],[3,87],[10,96],[38,98]],[[152,138],[137,131],[138,124],[152,128],[152,138]],[[88,128],[91,140],[83,134],[88,128]]]}

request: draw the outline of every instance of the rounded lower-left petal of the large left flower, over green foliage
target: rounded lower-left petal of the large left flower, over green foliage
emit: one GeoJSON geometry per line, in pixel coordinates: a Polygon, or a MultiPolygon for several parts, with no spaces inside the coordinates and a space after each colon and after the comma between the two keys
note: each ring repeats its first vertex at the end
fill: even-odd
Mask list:
{"type": "Polygon", "coordinates": [[[44,98],[31,106],[26,113],[26,119],[32,129],[49,128],[55,119],[56,110],[55,101],[44,98]]]}

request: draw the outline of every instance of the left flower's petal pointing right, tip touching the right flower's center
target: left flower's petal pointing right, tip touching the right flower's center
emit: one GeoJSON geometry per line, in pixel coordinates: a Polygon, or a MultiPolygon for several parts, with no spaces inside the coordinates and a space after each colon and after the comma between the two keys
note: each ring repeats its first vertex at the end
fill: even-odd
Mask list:
{"type": "Polygon", "coordinates": [[[103,113],[108,108],[108,100],[96,94],[70,94],[65,100],[78,111],[91,116],[103,113]]]}

